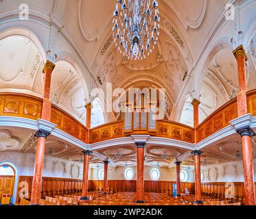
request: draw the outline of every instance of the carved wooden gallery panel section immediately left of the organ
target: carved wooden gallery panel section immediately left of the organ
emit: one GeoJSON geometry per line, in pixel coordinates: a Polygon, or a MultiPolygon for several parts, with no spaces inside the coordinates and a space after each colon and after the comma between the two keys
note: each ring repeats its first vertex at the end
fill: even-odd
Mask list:
{"type": "Polygon", "coordinates": [[[121,137],[124,137],[124,121],[117,121],[91,129],[89,142],[92,144],[95,142],[121,137]]]}

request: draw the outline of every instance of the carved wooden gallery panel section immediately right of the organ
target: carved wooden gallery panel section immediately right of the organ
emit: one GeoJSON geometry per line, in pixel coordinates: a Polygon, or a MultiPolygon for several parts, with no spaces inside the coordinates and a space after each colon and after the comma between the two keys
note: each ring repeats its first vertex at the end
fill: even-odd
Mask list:
{"type": "Polygon", "coordinates": [[[156,129],[157,137],[172,138],[190,143],[194,142],[194,129],[187,125],[166,120],[157,120],[156,129]]]}

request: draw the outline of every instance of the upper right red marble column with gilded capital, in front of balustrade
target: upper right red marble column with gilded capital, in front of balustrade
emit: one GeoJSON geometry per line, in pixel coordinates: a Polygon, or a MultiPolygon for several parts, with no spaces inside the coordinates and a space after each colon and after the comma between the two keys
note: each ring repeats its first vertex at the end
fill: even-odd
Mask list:
{"type": "Polygon", "coordinates": [[[241,45],[235,51],[233,51],[235,58],[237,60],[237,68],[238,68],[238,82],[240,91],[237,94],[237,114],[238,117],[247,114],[247,80],[246,80],[246,65],[247,61],[246,52],[244,51],[244,47],[241,45]]]}

